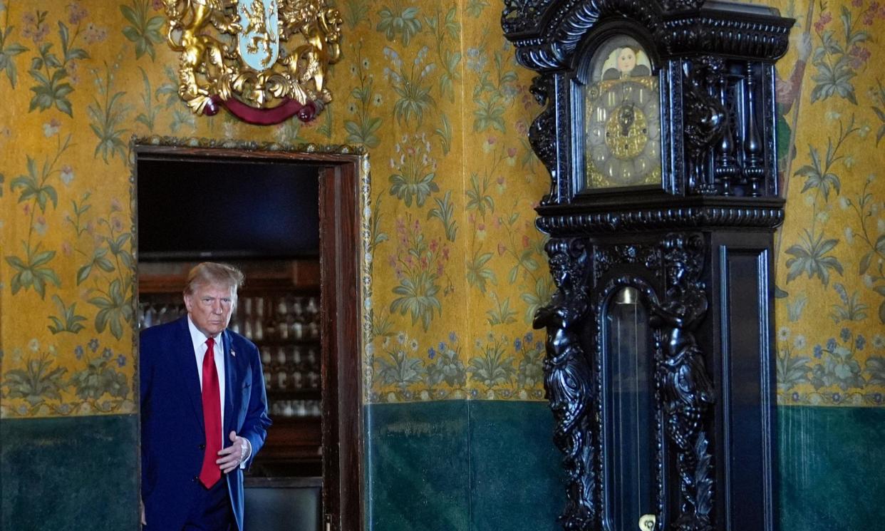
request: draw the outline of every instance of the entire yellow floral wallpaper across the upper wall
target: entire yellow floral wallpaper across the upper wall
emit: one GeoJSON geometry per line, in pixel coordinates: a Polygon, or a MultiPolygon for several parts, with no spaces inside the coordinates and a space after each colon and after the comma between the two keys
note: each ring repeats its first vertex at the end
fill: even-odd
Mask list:
{"type": "MultiPolygon", "coordinates": [[[[885,4],[774,4],[797,19],[778,82],[779,399],[881,405],[885,4]]],[[[158,0],[0,0],[0,417],[135,412],[132,135],[365,146],[366,402],[543,399],[549,177],[502,5],[336,5],[333,104],[254,127],[181,102],[158,0]]]]}

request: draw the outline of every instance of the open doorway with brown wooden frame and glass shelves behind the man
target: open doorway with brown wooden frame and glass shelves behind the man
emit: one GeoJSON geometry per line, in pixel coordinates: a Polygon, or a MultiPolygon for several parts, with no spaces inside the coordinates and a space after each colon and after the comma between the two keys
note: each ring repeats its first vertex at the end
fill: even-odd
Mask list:
{"type": "Polygon", "coordinates": [[[133,143],[140,324],[181,312],[190,266],[240,266],[230,327],[258,345],[274,421],[247,476],[251,510],[298,508],[298,528],[360,529],[362,158],[173,144],[133,143]],[[189,219],[194,201],[218,215],[189,219]]]}

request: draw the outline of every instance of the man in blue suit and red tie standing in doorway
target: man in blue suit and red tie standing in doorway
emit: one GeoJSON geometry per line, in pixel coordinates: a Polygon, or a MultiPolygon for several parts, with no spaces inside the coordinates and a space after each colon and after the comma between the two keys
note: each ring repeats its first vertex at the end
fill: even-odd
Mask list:
{"type": "Polygon", "coordinates": [[[144,531],[242,531],[242,471],[271,423],[258,349],[226,329],[242,281],[200,264],[188,315],[142,331],[144,531]]]}

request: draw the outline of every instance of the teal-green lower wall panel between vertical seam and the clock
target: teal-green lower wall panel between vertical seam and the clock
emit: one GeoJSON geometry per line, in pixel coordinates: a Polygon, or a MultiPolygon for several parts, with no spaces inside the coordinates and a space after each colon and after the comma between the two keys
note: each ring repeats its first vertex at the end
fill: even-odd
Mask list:
{"type": "Polygon", "coordinates": [[[559,531],[562,454],[546,402],[474,400],[470,412],[472,531],[559,531]]]}

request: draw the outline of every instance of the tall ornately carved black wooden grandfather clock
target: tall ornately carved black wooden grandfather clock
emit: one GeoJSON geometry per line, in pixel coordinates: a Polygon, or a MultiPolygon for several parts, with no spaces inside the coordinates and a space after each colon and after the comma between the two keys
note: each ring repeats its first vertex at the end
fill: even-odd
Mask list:
{"type": "Polygon", "coordinates": [[[505,0],[557,291],[545,388],[567,530],[775,531],[774,62],[792,19],[505,0]]]}

